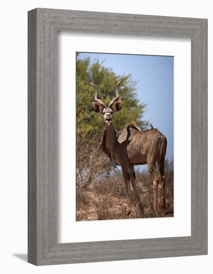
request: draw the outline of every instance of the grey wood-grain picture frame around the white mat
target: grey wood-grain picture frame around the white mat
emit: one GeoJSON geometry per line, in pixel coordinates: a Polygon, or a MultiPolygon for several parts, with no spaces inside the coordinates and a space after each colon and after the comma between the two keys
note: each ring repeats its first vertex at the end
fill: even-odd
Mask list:
{"type": "Polygon", "coordinates": [[[41,266],[208,253],[207,24],[207,19],[199,18],[45,8],[28,12],[29,263],[41,266]],[[57,31],[191,38],[191,236],[57,243],[57,31]]]}

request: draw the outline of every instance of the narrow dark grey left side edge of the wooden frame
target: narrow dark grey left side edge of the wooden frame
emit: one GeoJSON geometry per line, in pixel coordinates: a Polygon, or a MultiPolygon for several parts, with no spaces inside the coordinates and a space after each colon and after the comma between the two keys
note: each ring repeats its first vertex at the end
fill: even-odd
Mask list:
{"type": "Polygon", "coordinates": [[[28,16],[28,262],[37,262],[37,12],[28,16]]]}

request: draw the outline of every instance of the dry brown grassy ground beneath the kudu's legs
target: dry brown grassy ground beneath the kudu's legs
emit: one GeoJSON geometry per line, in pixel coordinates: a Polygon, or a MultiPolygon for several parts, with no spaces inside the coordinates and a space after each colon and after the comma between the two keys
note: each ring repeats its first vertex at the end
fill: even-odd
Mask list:
{"type": "Polygon", "coordinates": [[[153,210],[153,185],[151,176],[147,172],[136,173],[136,183],[141,202],[144,207],[142,215],[135,204],[132,192],[132,210],[126,215],[127,193],[122,174],[116,172],[115,176],[107,176],[94,180],[87,185],[81,185],[77,180],[77,207],[76,220],[111,220],[134,219],[153,217],[172,217],[174,213],[173,169],[167,169],[166,175],[166,208],[162,210],[162,184],[158,186],[158,210],[153,210]]]}

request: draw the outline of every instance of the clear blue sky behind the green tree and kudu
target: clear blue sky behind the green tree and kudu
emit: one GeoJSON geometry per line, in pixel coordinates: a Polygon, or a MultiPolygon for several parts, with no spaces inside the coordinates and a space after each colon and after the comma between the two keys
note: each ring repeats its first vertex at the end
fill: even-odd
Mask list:
{"type": "MultiPolygon", "coordinates": [[[[131,74],[137,81],[137,96],[147,104],[144,120],[150,121],[167,137],[167,158],[174,157],[174,58],[173,56],[80,53],[78,58],[90,57],[104,62],[117,75],[131,74]]],[[[120,94],[122,101],[122,95],[120,94]]]]}

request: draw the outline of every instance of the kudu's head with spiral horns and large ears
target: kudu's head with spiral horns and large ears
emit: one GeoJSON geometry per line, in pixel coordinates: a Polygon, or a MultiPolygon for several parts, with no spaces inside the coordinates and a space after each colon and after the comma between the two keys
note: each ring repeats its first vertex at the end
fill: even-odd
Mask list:
{"type": "Polygon", "coordinates": [[[89,84],[91,84],[95,90],[96,90],[96,95],[94,98],[94,102],[93,102],[93,109],[95,112],[99,112],[101,114],[104,115],[104,124],[105,127],[107,127],[111,121],[112,121],[112,114],[116,111],[121,110],[122,108],[122,103],[121,101],[118,101],[119,99],[119,93],[118,93],[118,88],[120,83],[123,81],[124,79],[121,79],[115,88],[115,97],[111,100],[111,102],[108,105],[108,108],[106,107],[106,105],[99,99],[99,90],[98,88],[91,82],[87,82],[89,84]]]}

